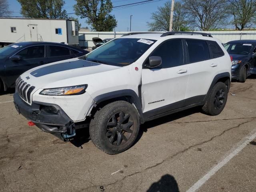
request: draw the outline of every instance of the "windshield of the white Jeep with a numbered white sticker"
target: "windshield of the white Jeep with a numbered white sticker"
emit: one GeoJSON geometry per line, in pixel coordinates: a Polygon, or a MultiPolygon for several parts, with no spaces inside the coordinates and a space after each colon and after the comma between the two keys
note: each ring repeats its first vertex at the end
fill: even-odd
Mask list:
{"type": "Polygon", "coordinates": [[[115,66],[126,66],[140,58],[154,42],[156,40],[114,39],[87,54],[83,59],[115,66]]]}

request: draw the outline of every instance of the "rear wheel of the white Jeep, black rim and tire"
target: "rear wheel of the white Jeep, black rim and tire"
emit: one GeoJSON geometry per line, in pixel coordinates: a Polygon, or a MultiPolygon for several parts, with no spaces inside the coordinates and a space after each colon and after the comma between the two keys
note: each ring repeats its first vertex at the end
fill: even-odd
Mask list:
{"type": "Polygon", "coordinates": [[[218,82],[212,88],[202,111],[207,115],[218,115],[224,109],[228,99],[228,88],[223,82],[218,82]]]}

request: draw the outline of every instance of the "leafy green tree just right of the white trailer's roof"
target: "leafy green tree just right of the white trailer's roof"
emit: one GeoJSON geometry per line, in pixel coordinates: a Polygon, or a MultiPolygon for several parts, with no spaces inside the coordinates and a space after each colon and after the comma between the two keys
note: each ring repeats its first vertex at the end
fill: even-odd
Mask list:
{"type": "Polygon", "coordinates": [[[113,31],[117,26],[114,15],[111,15],[110,0],[76,0],[74,10],[80,18],[86,18],[86,23],[94,31],[113,31]]]}

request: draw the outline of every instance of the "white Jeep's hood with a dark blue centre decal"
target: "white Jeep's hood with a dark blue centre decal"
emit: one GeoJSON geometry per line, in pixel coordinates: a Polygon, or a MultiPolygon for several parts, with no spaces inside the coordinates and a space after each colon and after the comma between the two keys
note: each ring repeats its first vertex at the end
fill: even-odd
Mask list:
{"type": "MultiPolygon", "coordinates": [[[[92,76],[121,67],[99,64],[78,58],[36,67],[21,75],[28,84],[39,88],[74,86],[88,82],[92,76]]],[[[97,76],[98,77],[98,76],[97,76]]]]}

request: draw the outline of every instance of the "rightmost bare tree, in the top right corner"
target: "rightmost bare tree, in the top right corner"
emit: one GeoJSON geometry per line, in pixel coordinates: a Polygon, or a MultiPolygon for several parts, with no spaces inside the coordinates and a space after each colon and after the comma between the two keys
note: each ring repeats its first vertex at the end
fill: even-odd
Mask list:
{"type": "Polygon", "coordinates": [[[256,0],[227,0],[227,10],[233,16],[231,24],[237,30],[250,28],[256,23],[256,0]]]}

